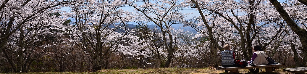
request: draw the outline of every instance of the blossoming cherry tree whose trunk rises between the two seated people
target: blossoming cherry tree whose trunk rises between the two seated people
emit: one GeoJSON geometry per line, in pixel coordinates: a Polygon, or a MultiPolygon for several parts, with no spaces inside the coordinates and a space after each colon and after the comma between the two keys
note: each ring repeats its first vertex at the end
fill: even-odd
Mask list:
{"type": "MultiPolygon", "coordinates": [[[[261,15],[267,15],[263,12],[266,9],[267,1],[264,0],[249,0],[249,1],[186,1],[188,5],[195,7],[200,14],[206,16],[214,16],[225,19],[229,25],[233,26],[235,30],[233,33],[240,35],[240,48],[244,58],[250,58],[252,55],[252,42],[259,33],[259,28],[267,25],[270,21],[262,18],[261,15]],[[259,25],[259,26],[258,26],[259,25]]],[[[207,27],[208,28],[208,27],[207,27]]]]}

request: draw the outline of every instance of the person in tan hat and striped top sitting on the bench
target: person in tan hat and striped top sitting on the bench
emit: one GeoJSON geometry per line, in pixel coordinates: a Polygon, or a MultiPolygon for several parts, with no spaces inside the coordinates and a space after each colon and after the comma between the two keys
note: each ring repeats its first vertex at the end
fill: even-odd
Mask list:
{"type": "MultiPolygon", "coordinates": [[[[236,67],[235,65],[235,52],[231,51],[231,45],[224,45],[224,51],[221,52],[222,66],[223,67],[236,67]]],[[[225,72],[228,72],[225,70],[225,72]]]]}

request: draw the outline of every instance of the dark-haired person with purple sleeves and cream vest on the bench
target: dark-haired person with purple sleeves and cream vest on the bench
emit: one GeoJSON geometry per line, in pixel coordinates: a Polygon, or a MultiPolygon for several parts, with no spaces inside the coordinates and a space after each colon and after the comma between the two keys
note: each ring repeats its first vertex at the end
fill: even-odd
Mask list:
{"type": "MultiPolygon", "coordinates": [[[[251,62],[250,64],[254,64],[254,65],[266,65],[269,62],[266,60],[266,57],[268,57],[266,55],[266,52],[262,51],[261,46],[259,45],[255,45],[254,48],[252,48],[252,50],[254,51],[253,53],[253,57],[251,58],[251,62]]],[[[255,69],[249,69],[250,72],[254,72],[254,73],[258,73],[259,72],[259,68],[255,68],[255,69]]]]}

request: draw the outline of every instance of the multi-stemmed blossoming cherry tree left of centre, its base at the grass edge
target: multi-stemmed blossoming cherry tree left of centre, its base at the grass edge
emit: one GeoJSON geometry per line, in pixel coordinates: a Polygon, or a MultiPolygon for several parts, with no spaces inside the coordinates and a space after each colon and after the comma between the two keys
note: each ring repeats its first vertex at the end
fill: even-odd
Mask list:
{"type": "Polygon", "coordinates": [[[120,0],[90,0],[70,6],[75,19],[71,37],[88,54],[93,71],[108,69],[110,55],[128,40],[126,23],[132,14],[119,9],[123,5],[120,0]]]}

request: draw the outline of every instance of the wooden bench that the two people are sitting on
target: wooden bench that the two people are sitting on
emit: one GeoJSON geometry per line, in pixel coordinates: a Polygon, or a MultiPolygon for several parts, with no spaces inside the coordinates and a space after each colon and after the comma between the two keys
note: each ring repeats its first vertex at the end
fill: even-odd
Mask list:
{"type": "Polygon", "coordinates": [[[286,64],[257,65],[257,66],[247,66],[245,68],[241,68],[241,67],[224,68],[222,66],[219,66],[219,68],[233,72],[233,73],[239,73],[239,69],[250,69],[250,68],[266,68],[266,72],[273,72],[273,71],[275,71],[275,69],[279,69],[279,67],[281,67],[281,66],[286,66],[286,64]]]}

